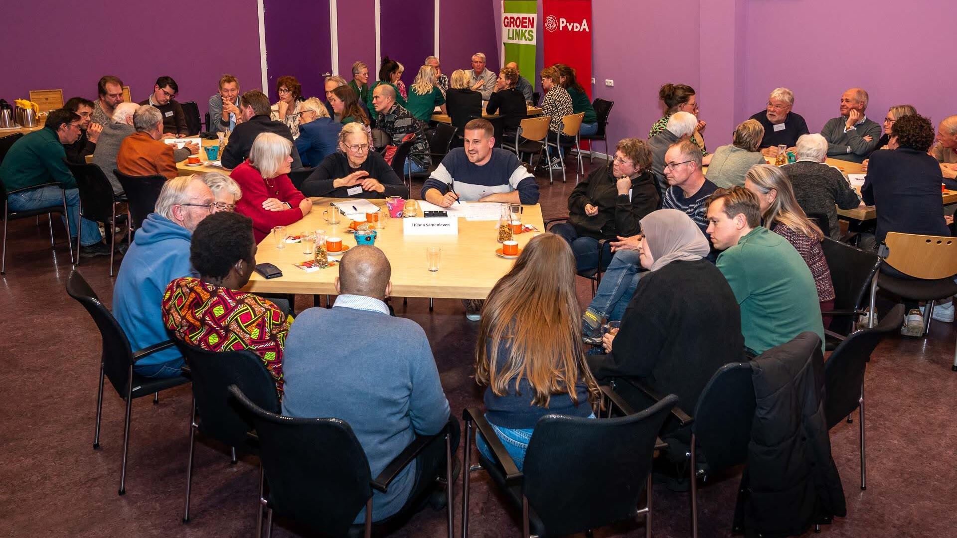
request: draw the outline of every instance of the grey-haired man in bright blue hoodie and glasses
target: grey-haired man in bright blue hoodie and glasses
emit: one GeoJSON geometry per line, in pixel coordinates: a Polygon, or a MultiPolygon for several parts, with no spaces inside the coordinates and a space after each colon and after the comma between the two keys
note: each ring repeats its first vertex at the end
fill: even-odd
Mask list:
{"type": "MultiPolygon", "coordinates": [[[[197,175],[167,181],[136,231],[113,288],[113,316],[134,350],[169,339],[163,325],[163,293],[180,277],[198,277],[189,264],[189,243],[199,221],[215,210],[215,196],[197,175]]],[[[133,367],[145,377],[179,375],[183,357],[175,347],[157,351],[133,367]]]]}

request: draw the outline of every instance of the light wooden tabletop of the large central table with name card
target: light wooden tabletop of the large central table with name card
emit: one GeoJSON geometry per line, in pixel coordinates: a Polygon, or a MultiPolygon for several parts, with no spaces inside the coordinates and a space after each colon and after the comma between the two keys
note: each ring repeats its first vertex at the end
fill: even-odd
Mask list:
{"type": "MultiPolygon", "coordinates": [[[[343,238],[343,244],[354,247],[355,238],[345,232],[348,218],[341,217],[338,225],[332,226],[323,220],[323,211],[338,211],[330,207],[336,198],[312,198],[313,210],[300,222],[286,227],[286,235],[296,235],[307,230],[324,230],[326,235],[343,238]]],[[[385,207],[385,200],[369,200],[385,207]]],[[[383,210],[385,211],[385,210],[383,210]]],[[[545,230],[542,208],[539,205],[524,206],[523,222],[545,230]]],[[[468,221],[458,219],[458,235],[405,236],[402,219],[390,218],[386,229],[380,230],[375,246],[386,253],[392,266],[392,295],[395,297],[434,297],[453,299],[485,299],[492,286],[501,279],[514,262],[499,258],[495,251],[501,244],[498,239],[498,221],[468,221]],[[426,269],[426,247],[442,249],[439,269],[426,269]]],[[[537,233],[516,235],[519,248],[537,233]]],[[[256,293],[335,294],[333,281],[339,275],[338,265],[306,273],[294,264],[311,259],[302,254],[298,243],[276,248],[276,240],[268,236],[259,243],[256,263],[270,262],[282,271],[282,277],[265,280],[257,273],[244,289],[256,293]]],[[[330,258],[330,259],[338,259],[330,258]]]]}

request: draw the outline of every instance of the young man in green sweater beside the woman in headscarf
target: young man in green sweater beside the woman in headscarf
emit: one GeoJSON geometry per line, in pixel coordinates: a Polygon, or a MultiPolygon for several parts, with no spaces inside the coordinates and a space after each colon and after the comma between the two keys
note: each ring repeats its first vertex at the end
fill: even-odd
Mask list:
{"type": "Polygon", "coordinates": [[[811,270],[787,239],[761,226],[757,196],[744,187],[715,191],[707,233],[723,250],[715,265],[741,307],[745,347],[761,354],[812,331],[823,350],[824,323],[811,270]]]}

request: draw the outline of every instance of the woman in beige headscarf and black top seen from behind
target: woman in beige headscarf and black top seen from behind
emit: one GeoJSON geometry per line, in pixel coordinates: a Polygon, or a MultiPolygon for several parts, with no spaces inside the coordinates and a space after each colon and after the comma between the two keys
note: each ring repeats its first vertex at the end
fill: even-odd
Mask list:
{"type": "Polygon", "coordinates": [[[741,311],[721,271],[705,259],[708,241],[686,213],[648,213],[641,232],[638,253],[648,272],[618,333],[605,336],[606,354],[589,355],[589,366],[597,378],[618,378],[616,389],[637,409],[647,402],[630,379],[678,394],[681,409],[694,410],[711,375],[744,356],[741,311]]]}

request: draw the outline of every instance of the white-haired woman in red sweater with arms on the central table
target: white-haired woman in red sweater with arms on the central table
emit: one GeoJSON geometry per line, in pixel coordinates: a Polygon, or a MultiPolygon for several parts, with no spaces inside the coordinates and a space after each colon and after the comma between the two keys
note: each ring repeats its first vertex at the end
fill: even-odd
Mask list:
{"type": "Polygon", "coordinates": [[[243,193],[235,211],[253,219],[257,243],[274,226],[288,226],[312,211],[312,201],[293,187],[287,175],[293,163],[292,144],[278,134],[260,133],[249,159],[230,174],[243,193]]]}

